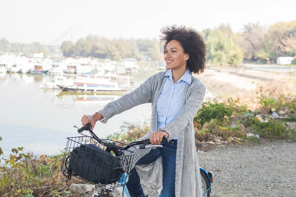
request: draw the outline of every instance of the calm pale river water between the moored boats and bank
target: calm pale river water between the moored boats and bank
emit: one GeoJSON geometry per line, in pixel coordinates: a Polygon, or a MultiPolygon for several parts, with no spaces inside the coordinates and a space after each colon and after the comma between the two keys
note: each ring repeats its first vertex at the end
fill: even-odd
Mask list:
{"type": "MultiPolygon", "coordinates": [[[[135,75],[135,87],[154,73],[140,70],[135,75]]],[[[48,75],[0,73],[0,147],[4,155],[16,147],[24,147],[35,155],[60,153],[66,146],[66,137],[79,135],[73,126],[81,127],[84,114],[93,114],[118,99],[118,96],[61,95],[60,91],[39,88],[52,79],[48,75]]],[[[98,122],[94,132],[106,137],[119,131],[124,121],[143,122],[150,118],[150,108],[150,103],[139,105],[114,116],[107,124],[98,122]]]]}

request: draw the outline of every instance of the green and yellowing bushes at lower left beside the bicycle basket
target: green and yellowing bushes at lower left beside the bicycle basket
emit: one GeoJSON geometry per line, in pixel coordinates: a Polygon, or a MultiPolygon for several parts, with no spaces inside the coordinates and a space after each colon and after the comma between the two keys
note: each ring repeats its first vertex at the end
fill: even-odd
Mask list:
{"type": "Polygon", "coordinates": [[[1,150],[0,155],[0,171],[4,175],[0,178],[0,196],[66,197],[70,184],[77,183],[75,179],[67,180],[61,172],[64,153],[33,156],[18,147],[11,150],[9,158],[5,158],[1,150]]]}

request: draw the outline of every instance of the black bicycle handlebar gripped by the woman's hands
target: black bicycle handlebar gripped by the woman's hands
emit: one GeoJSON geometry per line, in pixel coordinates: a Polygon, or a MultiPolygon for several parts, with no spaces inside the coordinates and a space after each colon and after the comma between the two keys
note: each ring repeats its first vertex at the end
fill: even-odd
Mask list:
{"type": "MultiPolygon", "coordinates": [[[[77,132],[81,135],[84,135],[84,134],[82,134],[82,131],[89,131],[89,133],[91,134],[91,136],[93,138],[95,138],[99,143],[102,143],[102,140],[93,132],[92,125],[90,123],[87,123],[85,126],[81,127],[80,129],[74,125],[74,128],[77,128],[77,132]]],[[[84,135],[84,136],[87,136],[87,135],[84,135]]],[[[167,143],[167,142],[168,142],[168,138],[166,136],[163,136],[161,143],[167,143]]],[[[110,143],[110,144],[112,144],[112,143],[110,143]]],[[[122,144],[124,144],[124,143],[122,143],[122,144]]],[[[128,149],[129,147],[135,147],[136,145],[139,145],[139,147],[135,147],[135,148],[139,148],[139,149],[157,148],[157,147],[162,148],[162,145],[152,145],[150,143],[150,139],[135,141],[135,142],[131,142],[126,145],[127,146],[124,147],[124,149],[128,149]]],[[[117,146],[117,145],[115,145],[115,146],[117,146]]]]}

